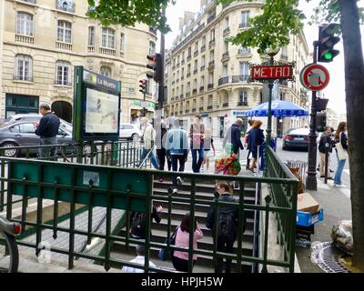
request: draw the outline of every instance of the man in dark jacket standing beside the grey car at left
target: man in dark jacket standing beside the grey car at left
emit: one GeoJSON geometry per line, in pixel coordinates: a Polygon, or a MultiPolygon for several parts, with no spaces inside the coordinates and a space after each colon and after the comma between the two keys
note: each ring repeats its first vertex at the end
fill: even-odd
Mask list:
{"type": "MultiPolygon", "coordinates": [[[[58,116],[52,113],[51,108],[47,104],[39,106],[39,113],[43,115],[40,119],[39,125],[35,129],[35,135],[40,136],[40,146],[56,145],[59,125],[61,124],[58,116]]],[[[39,158],[49,156],[56,156],[56,147],[52,147],[50,150],[46,147],[39,148],[39,158]]]]}

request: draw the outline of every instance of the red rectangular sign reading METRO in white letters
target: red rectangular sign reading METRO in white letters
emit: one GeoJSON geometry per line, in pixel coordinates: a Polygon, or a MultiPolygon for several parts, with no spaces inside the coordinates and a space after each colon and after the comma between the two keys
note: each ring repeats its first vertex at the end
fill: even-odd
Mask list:
{"type": "Polygon", "coordinates": [[[286,80],[293,77],[293,65],[252,65],[250,78],[253,80],[286,80]]]}

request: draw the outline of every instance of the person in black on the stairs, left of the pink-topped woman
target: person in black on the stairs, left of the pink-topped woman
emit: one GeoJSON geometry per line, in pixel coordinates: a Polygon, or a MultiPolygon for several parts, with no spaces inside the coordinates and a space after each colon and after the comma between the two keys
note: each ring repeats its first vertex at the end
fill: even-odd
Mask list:
{"type": "MultiPolygon", "coordinates": [[[[160,213],[163,211],[162,206],[153,206],[151,220],[160,223],[160,213]]],[[[135,211],[130,216],[130,235],[136,239],[146,239],[147,214],[145,212],[135,211]]],[[[152,231],[150,229],[150,231],[152,231]]]]}

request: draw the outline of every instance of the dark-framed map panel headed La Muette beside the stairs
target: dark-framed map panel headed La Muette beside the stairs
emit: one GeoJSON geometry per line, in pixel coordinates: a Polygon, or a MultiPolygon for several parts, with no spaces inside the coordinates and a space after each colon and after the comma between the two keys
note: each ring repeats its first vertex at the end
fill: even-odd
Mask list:
{"type": "Polygon", "coordinates": [[[74,141],[118,139],[121,83],[83,66],[75,72],[74,141]]]}

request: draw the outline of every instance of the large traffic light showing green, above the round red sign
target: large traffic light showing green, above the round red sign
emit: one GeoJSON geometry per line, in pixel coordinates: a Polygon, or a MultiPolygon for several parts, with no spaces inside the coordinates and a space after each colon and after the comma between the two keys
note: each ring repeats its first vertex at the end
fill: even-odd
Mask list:
{"type": "Polygon", "coordinates": [[[338,24],[320,25],[319,26],[319,55],[318,62],[330,63],[335,56],[339,55],[339,50],[334,46],[339,43],[339,36],[335,34],[339,30],[338,24]]]}

